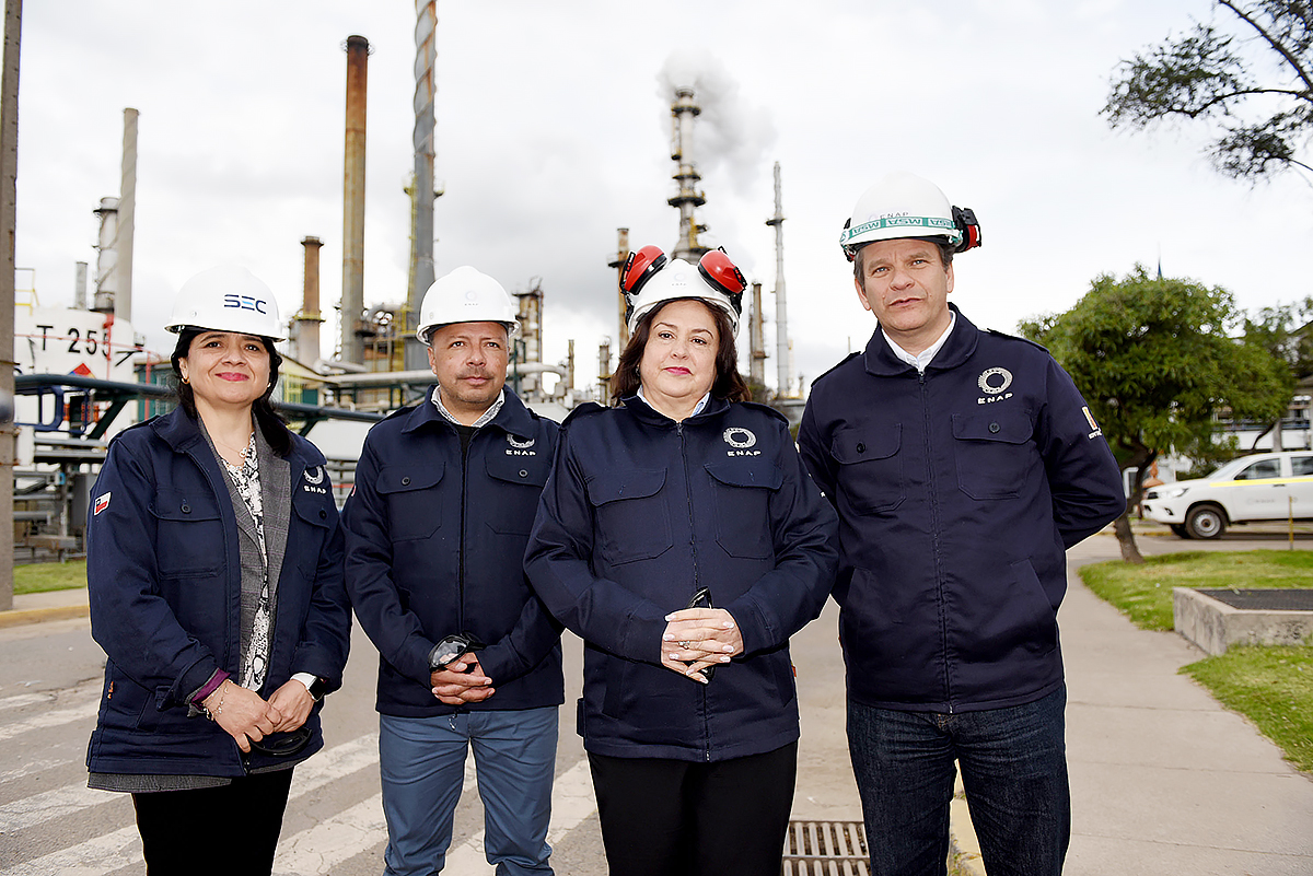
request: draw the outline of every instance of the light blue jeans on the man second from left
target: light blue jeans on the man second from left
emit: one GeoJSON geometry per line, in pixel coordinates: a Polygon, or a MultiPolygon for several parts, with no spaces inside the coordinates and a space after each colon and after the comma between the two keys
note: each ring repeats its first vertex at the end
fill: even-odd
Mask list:
{"type": "Polygon", "coordinates": [[[555,706],[435,717],[379,715],[378,763],[387,817],[383,872],[429,876],[442,871],[465,780],[465,751],[473,745],[488,863],[498,876],[551,873],[546,838],[557,717],[555,706]]]}

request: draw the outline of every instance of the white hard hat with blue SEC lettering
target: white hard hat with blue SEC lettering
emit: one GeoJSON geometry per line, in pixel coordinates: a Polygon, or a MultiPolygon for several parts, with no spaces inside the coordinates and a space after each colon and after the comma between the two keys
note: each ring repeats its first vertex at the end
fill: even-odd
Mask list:
{"type": "Polygon", "coordinates": [[[188,328],[259,334],[274,341],[288,337],[273,291],[235,265],[202,270],[177,290],[173,315],[164,330],[176,334],[188,328]]]}

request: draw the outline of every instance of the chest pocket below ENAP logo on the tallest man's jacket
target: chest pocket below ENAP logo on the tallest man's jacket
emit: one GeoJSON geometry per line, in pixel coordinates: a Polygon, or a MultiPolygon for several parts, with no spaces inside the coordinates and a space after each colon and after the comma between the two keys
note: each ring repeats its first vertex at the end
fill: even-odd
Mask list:
{"type": "Polygon", "coordinates": [[[953,414],[957,487],[976,500],[1015,498],[1039,464],[1028,410],[953,414]]]}

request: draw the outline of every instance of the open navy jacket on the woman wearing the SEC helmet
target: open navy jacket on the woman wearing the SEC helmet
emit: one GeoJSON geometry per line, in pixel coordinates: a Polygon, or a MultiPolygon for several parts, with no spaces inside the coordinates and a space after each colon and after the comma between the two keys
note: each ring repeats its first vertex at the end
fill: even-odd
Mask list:
{"type": "MultiPolygon", "coordinates": [[[[336,690],[351,639],[341,527],[324,458],[305,438],[291,442],[291,519],[260,690],[265,699],[294,673],[318,675],[336,690]]],[[[186,698],[215,670],[235,681],[242,660],[238,523],[198,424],[177,409],[125,429],[109,445],[92,502],[91,632],[109,661],[88,768],[239,776],[285,765],[259,753],[243,758],[218,724],[188,717],[186,698]]],[[[323,746],[318,704],[306,727],[310,744],[295,759],[323,746]]]]}

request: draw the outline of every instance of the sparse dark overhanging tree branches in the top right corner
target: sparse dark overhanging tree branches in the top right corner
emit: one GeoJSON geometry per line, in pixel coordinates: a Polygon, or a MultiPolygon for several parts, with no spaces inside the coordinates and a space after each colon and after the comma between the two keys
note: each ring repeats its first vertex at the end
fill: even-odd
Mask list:
{"type": "Polygon", "coordinates": [[[1310,170],[1313,135],[1313,3],[1216,0],[1232,29],[1196,22],[1112,73],[1103,114],[1112,127],[1165,119],[1216,119],[1209,153],[1237,180],[1292,167],[1310,170]],[[1258,71],[1267,73],[1260,76],[1258,71]],[[1271,71],[1271,72],[1267,72],[1271,71]]]}

